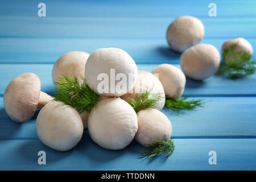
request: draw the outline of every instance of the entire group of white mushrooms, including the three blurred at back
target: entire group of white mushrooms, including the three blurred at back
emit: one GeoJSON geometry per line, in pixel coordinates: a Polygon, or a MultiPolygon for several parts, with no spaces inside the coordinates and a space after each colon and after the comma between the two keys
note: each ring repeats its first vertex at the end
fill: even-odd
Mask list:
{"type": "MultiPolygon", "coordinates": [[[[181,69],[171,64],[158,65],[151,73],[138,71],[133,58],[119,48],[100,48],[90,55],[72,51],[61,56],[53,66],[54,83],[62,76],[84,77],[86,84],[100,96],[90,112],[79,113],[75,107],[53,100],[40,90],[40,79],[34,73],[23,73],[7,86],[3,97],[6,113],[15,122],[27,122],[41,109],[36,118],[36,131],[46,146],[58,151],[71,150],[79,143],[88,127],[90,138],[109,150],[125,148],[135,138],[143,146],[159,140],[167,141],[172,134],[169,119],[160,110],[166,97],[183,96],[186,77],[204,80],[220,65],[220,53],[210,44],[198,44],[204,36],[203,23],[192,16],[181,16],[170,24],[167,42],[182,52],[181,69]],[[150,97],[159,94],[155,108],[135,112],[129,100],[135,100],[144,90],[150,97]]],[[[253,54],[245,39],[228,40],[238,51],[253,54]]],[[[86,108],[85,108],[86,109],[86,108]]]]}

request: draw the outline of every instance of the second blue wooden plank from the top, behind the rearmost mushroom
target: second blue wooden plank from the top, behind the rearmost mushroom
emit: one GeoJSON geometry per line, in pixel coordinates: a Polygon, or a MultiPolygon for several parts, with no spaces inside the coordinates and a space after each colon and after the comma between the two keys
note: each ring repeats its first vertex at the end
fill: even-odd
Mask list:
{"type": "MultiPolygon", "coordinates": [[[[1,16],[0,36],[40,38],[165,38],[171,18],[88,18],[1,16]]],[[[251,38],[256,17],[200,18],[205,38],[251,38]]],[[[255,38],[255,36],[254,36],[255,38]]]]}

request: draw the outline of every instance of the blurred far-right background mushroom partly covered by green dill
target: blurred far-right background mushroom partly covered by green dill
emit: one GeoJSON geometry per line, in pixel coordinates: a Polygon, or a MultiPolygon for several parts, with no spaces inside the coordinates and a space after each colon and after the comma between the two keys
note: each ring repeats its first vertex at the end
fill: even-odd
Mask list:
{"type": "MultiPolygon", "coordinates": [[[[222,47],[221,47],[222,55],[223,55],[224,49],[230,49],[231,46],[233,46],[234,44],[236,44],[236,48],[234,49],[235,52],[247,52],[250,55],[253,55],[253,47],[247,40],[243,38],[230,39],[224,42],[224,44],[222,44],[222,47]]],[[[228,57],[225,57],[224,59],[225,61],[229,61],[233,58],[232,55],[225,55],[225,56],[228,56],[228,57]]]]}

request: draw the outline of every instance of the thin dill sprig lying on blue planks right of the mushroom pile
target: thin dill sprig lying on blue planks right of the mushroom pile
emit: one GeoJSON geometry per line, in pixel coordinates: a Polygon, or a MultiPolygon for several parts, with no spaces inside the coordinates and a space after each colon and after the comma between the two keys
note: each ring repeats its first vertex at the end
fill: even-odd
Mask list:
{"type": "Polygon", "coordinates": [[[195,107],[203,107],[205,104],[204,99],[198,100],[189,100],[187,101],[188,97],[184,98],[171,98],[166,97],[166,107],[169,107],[177,112],[180,110],[193,110],[195,107]]]}

